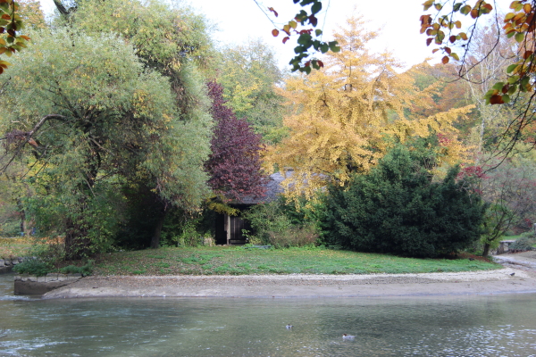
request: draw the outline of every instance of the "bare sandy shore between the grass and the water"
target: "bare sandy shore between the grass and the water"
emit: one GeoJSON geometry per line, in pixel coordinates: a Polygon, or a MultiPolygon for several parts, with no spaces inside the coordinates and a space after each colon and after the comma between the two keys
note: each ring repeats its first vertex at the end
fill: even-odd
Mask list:
{"type": "Polygon", "coordinates": [[[43,297],[296,298],[536,293],[536,253],[505,257],[510,261],[504,262],[504,269],[458,273],[88,277],[43,297]]]}

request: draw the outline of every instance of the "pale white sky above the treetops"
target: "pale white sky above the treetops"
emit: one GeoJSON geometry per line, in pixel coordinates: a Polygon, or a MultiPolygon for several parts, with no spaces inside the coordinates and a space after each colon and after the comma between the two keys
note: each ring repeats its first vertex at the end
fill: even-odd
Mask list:
{"type": "MultiPolygon", "coordinates": [[[[43,9],[54,8],[52,0],[40,0],[43,9]]],[[[292,0],[257,0],[264,12],[254,0],[169,0],[177,4],[188,4],[217,27],[214,33],[215,43],[220,46],[244,44],[248,39],[261,38],[272,46],[277,54],[280,66],[285,66],[294,56],[295,42],[281,43],[282,36],[273,37],[274,25],[264,14],[268,7],[279,12],[279,17],[271,18],[281,29],[301,7],[292,0]]],[[[382,52],[389,50],[396,54],[398,60],[411,66],[433,57],[431,48],[425,44],[426,37],[419,34],[419,17],[423,14],[423,0],[322,0],[323,8],[319,16],[317,29],[323,29],[323,41],[332,39],[332,32],[345,23],[349,15],[361,14],[370,21],[371,29],[380,29],[378,37],[371,48],[382,52]]],[[[436,55],[437,57],[437,55],[436,55]]],[[[432,62],[437,62],[437,59],[432,62]]]]}

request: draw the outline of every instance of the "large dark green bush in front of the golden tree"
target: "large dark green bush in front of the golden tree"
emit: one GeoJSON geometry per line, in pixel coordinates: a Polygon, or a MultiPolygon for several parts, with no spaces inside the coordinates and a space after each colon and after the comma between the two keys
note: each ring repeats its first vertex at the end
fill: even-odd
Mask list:
{"type": "Polygon", "coordinates": [[[361,252],[433,257],[464,249],[481,234],[484,205],[456,182],[458,168],[439,182],[433,153],[398,145],[368,174],[329,187],[322,241],[361,252]],[[432,163],[433,164],[433,163],[432,163]]]}

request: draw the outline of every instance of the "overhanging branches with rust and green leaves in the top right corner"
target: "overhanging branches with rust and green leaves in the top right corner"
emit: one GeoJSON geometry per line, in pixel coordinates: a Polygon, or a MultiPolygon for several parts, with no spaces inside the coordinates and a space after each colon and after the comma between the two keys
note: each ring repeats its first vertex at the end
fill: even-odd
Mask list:
{"type": "MultiPolygon", "coordinates": [[[[441,51],[444,56],[442,62],[447,63],[450,59],[460,61],[459,76],[466,78],[480,62],[473,62],[471,47],[473,41],[477,40],[476,32],[479,28],[479,21],[482,16],[493,13],[493,6],[483,0],[452,2],[443,4],[434,0],[427,0],[423,3],[424,11],[431,8],[436,13],[423,14],[421,16],[421,33],[425,33],[428,38],[426,44],[434,44],[436,48],[432,52],[441,51]],[[471,26],[465,26],[465,30],[460,15],[471,15],[471,26]],[[467,33],[466,33],[467,32],[467,33]],[[457,54],[461,49],[462,55],[457,54]]],[[[534,36],[536,2],[534,0],[515,0],[510,3],[511,12],[506,15],[499,15],[494,12],[492,26],[496,28],[497,37],[494,45],[489,46],[488,52],[483,58],[488,58],[502,41],[502,32],[499,22],[504,23],[502,30],[508,38],[515,38],[515,55],[508,58],[507,78],[490,84],[484,97],[486,104],[512,104],[516,117],[502,133],[504,144],[500,147],[498,154],[510,154],[516,143],[522,140],[523,131],[530,129],[534,121],[534,111],[532,103],[536,97],[533,87],[533,75],[536,72],[536,62],[534,62],[534,52],[536,51],[536,37],[534,36]]]]}

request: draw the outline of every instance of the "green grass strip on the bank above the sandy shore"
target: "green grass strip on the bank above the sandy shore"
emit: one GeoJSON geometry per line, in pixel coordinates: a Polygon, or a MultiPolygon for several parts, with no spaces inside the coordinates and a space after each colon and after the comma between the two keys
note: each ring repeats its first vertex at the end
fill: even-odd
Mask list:
{"type": "Polygon", "coordinates": [[[368,274],[494,270],[493,262],[414,259],[329,249],[161,248],[103,254],[95,275],[368,274]]]}

